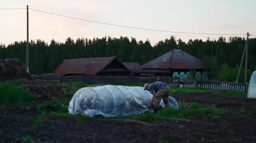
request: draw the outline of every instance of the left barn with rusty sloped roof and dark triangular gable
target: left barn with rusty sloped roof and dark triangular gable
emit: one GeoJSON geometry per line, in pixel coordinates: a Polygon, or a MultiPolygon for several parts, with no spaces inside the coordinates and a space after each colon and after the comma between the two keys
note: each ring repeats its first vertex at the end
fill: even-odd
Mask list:
{"type": "Polygon", "coordinates": [[[117,57],[102,57],[64,60],[53,74],[129,76],[130,71],[117,57]]]}

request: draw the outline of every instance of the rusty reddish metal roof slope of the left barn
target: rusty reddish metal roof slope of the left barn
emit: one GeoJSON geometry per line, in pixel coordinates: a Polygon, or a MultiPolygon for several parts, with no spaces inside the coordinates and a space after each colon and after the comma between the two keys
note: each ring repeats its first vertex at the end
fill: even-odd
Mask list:
{"type": "Polygon", "coordinates": [[[114,60],[117,60],[117,58],[102,57],[102,58],[82,58],[82,59],[64,60],[60,65],[60,67],[58,67],[58,69],[54,72],[54,74],[55,75],[65,75],[65,74],[95,75],[101,70],[103,70],[105,67],[107,67],[114,60]]]}

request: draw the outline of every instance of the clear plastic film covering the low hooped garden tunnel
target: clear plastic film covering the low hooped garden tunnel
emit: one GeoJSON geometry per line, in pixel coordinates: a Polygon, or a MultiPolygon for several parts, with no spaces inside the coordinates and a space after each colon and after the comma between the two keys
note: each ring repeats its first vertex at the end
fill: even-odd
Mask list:
{"type": "MultiPolygon", "coordinates": [[[[73,95],[68,111],[71,114],[104,117],[140,114],[151,111],[148,105],[152,97],[149,91],[138,86],[84,87],[73,95]]],[[[178,109],[179,105],[173,97],[169,96],[169,102],[171,107],[178,109]]],[[[163,101],[160,105],[164,107],[163,101]]]]}

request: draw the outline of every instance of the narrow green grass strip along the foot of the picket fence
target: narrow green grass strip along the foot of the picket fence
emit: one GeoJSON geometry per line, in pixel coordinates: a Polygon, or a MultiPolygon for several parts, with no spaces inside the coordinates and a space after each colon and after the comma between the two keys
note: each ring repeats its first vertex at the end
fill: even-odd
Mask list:
{"type": "Polygon", "coordinates": [[[228,94],[228,95],[242,95],[247,96],[247,92],[240,92],[240,91],[227,91],[227,90],[212,90],[212,89],[198,89],[198,88],[180,88],[180,87],[171,87],[171,92],[210,92],[210,93],[217,93],[217,94],[228,94]]]}

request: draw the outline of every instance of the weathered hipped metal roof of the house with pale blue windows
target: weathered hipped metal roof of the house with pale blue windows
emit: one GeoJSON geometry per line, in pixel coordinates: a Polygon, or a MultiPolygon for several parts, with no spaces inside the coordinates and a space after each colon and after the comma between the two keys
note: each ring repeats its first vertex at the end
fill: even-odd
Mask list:
{"type": "Polygon", "coordinates": [[[203,69],[201,60],[179,50],[172,51],[140,66],[142,69],[203,69]]]}

